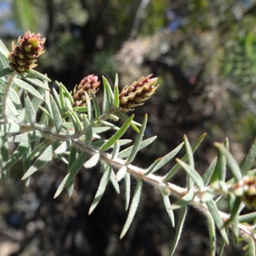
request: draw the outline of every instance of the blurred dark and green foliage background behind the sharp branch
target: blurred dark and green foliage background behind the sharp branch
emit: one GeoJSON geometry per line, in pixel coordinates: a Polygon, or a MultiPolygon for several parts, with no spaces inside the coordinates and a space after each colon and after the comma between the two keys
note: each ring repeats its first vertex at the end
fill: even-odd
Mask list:
{"type": "MultiPolygon", "coordinates": [[[[25,31],[40,32],[47,41],[37,70],[70,91],[88,74],[113,83],[118,73],[120,87],[151,73],[159,77],[157,93],[135,111],[138,121],[148,113],[147,136],[158,138],[135,164],[147,167],[183,134],[193,143],[207,132],[195,153],[201,173],[217,154],[214,141],[227,136],[241,162],[256,135],[255,24],[254,0],[0,0],[1,40],[11,50],[25,31]]],[[[81,170],[72,200],[65,193],[53,200],[65,172],[65,165],[52,163],[26,188],[18,165],[10,184],[1,182],[1,255],[168,255],[175,229],[157,189],[145,186],[120,241],[127,215],[122,193],[109,187],[88,216],[102,173],[81,170]]],[[[172,182],[185,184],[184,173],[172,182]]],[[[209,243],[206,221],[191,209],[175,255],[208,255],[209,243]]],[[[243,246],[231,243],[224,255],[241,255],[243,246]]]]}

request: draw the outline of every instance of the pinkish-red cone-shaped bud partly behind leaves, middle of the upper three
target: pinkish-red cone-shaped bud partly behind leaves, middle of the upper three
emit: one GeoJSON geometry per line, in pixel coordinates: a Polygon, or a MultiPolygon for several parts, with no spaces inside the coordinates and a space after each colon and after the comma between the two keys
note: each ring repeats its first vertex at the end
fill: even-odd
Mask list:
{"type": "Polygon", "coordinates": [[[74,107],[77,106],[86,106],[86,97],[84,92],[87,92],[90,95],[90,89],[95,94],[99,91],[100,81],[98,81],[98,77],[94,75],[89,75],[84,77],[81,82],[76,85],[73,90],[73,99],[74,99],[74,107]]]}

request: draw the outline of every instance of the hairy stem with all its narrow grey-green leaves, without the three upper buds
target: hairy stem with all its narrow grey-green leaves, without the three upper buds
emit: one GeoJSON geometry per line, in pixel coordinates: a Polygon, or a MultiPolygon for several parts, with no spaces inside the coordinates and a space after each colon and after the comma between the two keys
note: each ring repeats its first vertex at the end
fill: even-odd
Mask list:
{"type": "Polygon", "coordinates": [[[86,106],[74,107],[72,95],[62,83],[58,91],[49,91],[51,80],[34,70],[25,74],[16,74],[8,68],[8,51],[0,42],[0,170],[3,177],[8,179],[13,164],[22,162],[24,176],[28,184],[29,177],[42,166],[50,163],[53,158],[67,163],[67,175],[57,189],[54,198],[67,189],[68,196],[72,196],[74,179],[81,168],[102,166],[104,170],[95,194],[89,214],[100,203],[109,183],[119,193],[118,182],[124,182],[125,211],[129,209],[127,220],[120,237],[124,237],[140,205],[143,183],[152,184],[159,189],[163,198],[166,214],[171,225],[177,230],[173,244],[170,244],[170,255],[182,236],[182,227],[189,214],[188,205],[199,209],[209,225],[211,240],[211,255],[215,255],[216,248],[220,248],[219,255],[228,241],[228,228],[231,228],[234,241],[242,238],[248,243],[248,255],[255,255],[254,234],[255,226],[250,222],[255,220],[256,212],[241,214],[244,205],[256,207],[255,172],[250,170],[256,154],[256,140],[244,158],[241,166],[228,150],[228,141],[224,144],[216,143],[219,156],[214,157],[204,175],[196,171],[193,152],[204,140],[203,134],[194,145],[184,136],[184,142],[173,149],[166,156],[159,157],[148,164],[146,170],[132,165],[139,150],[152,143],[156,136],[143,138],[147,126],[147,114],[142,124],[134,121],[134,115],[129,115],[119,108],[118,77],[115,85],[111,86],[102,77],[104,97],[102,108],[92,90],[85,92],[86,106]],[[39,91],[39,92],[38,92],[39,91]],[[40,115],[38,115],[40,114],[40,115]],[[116,120],[122,120],[120,127],[116,120]],[[131,140],[123,140],[122,136],[131,127],[138,133],[133,145],[126,147],[131,140]],[[112,136],[102,140],[102,132],[113,130],[112,136]],[[10,147],[15,143],[15,150],[10,147]],[[157,175],[157,171],[173,158],[185,145],[185,154],[181,159],[175,159],[176,164],[164,176],[157,175]],[[120,150],[120,147],[125,147],[120,150]],[[188,162],[188,163],[186,163],[188,162]],[[170,182],[170,178],[180,169],[186,173],[187,186],[180,188],[170,182]],[[225,180],[226,171],[230,170],[231,180],[225,180]],[[115,174],[116,173],[116,174],[115,174]],[[136,189],[131,195],[131,177],[136,178],[136,189]],[[175,200],[171,202],[170,196],[175,200]],[[131,204],[130,204],[130,198],[131,204]],[[218,205],[225,199],[229,213],[219,211],[218,205]],[[181,209],[179,220],[174,218],[173,211],[181,209]],[[245,224],[244,224],[245,223],[245,224]],[[216,244],[218,228],[223,239],[221,246],[216,244]]]}

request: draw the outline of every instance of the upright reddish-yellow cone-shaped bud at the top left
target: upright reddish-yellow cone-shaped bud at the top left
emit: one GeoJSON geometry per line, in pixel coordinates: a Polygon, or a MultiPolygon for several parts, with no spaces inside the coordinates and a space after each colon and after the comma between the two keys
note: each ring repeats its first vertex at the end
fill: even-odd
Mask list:
{"type": "Polygon", "coordinates": [[[37,66],[37,58],[44,53],[45,38],[40,34],[26,32],[24,37],[18,38],[18,45],[12,44],[13,52],[9,55],[10,68],[22,74],[26,70],[37,66]]]}

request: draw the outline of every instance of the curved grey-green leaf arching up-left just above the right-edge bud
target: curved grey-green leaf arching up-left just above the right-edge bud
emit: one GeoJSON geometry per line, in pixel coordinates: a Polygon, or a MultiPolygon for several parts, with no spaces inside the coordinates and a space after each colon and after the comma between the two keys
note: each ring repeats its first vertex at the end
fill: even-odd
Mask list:
{"type": "Polygon", "coordinates": [[[243,179],[243,175],[241,173],[241,170],[239,168],[239,165],[236,163],[236,160],[234,157],[228,152],[228,150],[221,145],[220,143],[214,143],[214,146],[218,148],[221,154],[223,154],[227,159],[227,164],[230,168],[230,171],[232,172],[234,178],[237,182],[243,179]]]}

